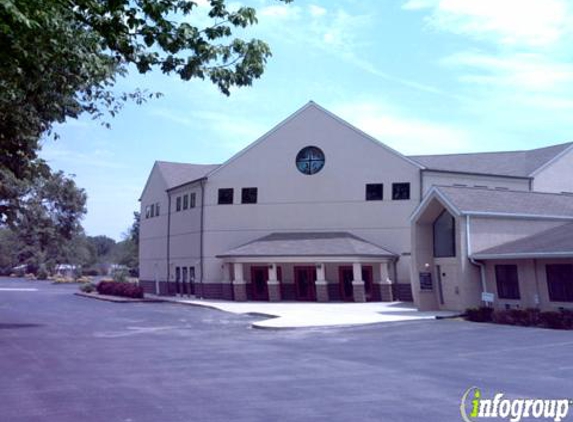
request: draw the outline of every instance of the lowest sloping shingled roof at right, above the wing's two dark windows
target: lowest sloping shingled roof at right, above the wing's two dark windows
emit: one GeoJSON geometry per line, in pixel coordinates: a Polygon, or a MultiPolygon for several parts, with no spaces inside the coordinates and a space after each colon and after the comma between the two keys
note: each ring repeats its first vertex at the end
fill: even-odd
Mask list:
{"type": "Polygon", "coordinates": [[[573,257],[573,223],[503,243],[473,254],[475,259],[573,257]]]}

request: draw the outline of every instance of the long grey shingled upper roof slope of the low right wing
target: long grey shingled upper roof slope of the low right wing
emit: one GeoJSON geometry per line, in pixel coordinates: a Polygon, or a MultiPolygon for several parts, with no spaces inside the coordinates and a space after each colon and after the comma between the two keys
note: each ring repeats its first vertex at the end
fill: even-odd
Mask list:
{"type": "Polygon", "coordinates": [[[461,214],[523,214],[573,219],[573,195],[458,186],[435,188],[461,214]]]}

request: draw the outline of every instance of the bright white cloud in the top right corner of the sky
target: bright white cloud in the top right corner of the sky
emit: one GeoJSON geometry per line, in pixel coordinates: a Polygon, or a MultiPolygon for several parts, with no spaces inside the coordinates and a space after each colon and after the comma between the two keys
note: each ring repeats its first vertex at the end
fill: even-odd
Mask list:
{"type": "Polygon", "coordinates": [[[410,0],[403,8],[432,9],[431,27],[505,45],[551,45],[572,23],[566,0],[410,0]]]}

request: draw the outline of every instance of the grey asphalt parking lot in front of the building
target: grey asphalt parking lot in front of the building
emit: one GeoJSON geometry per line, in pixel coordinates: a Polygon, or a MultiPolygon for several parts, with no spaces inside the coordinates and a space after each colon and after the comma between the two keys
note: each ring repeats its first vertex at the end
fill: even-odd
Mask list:
{"type": "Polygon", "coordinates": [[[0,421],[444,422],[462,420],[472,386],[573,397],[571,332],[457,320],[258,330],[256,317],[76,289],[0,279],[0,421]],[[37,290],[6,290],[22,288],[37,290]]]}

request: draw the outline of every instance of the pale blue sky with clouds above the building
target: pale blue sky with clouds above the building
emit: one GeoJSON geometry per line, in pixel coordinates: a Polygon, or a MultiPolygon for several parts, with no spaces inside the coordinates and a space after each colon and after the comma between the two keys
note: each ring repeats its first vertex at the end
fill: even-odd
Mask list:
{"type": "Polygon", "coordinates": [[[155,160],[220,163],[309,100],[405,154],[572,138],[568,0],[230,4],[258,10],[259,24],[242,35],[273,50],[252,87],[225,97],[208,82],[131,74],[119,91],[164,96],[129,104],[111,129],[84,117],[44,142],[42,157],[88,193],[88,234],[121,238],[155,160]]]}

